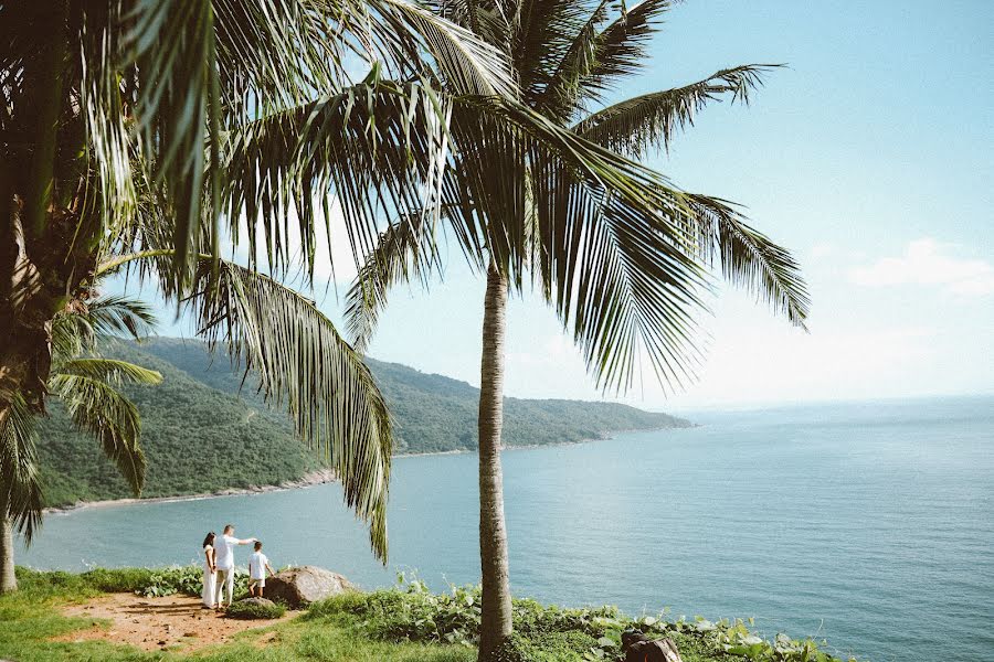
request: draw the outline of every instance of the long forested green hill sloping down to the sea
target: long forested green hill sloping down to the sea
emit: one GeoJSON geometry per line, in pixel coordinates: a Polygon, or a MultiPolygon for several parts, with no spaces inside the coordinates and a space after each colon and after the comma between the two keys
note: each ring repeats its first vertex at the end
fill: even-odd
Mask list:
{"type": "MultiPolygon", "coordinates": [[[[195,340],[112,341],[107,355],[158,370],[163,382],[128,391],[141,412],[149,470],[145,496],[279,484],[322,467],[271,410],[250,377],[195,340]]],[[[369,359],[391,407],[396,452],[476,449],[479,391],[465,382],[369,359]]],[[[76,434],[57,404],[41,426],[39,455],[49,505],[129,496],[96,444],[76,434]]],[[[688,421],[612,403],[507,398],[507,446],[601,438],[613,431],[686,427],[688,421]]]]}

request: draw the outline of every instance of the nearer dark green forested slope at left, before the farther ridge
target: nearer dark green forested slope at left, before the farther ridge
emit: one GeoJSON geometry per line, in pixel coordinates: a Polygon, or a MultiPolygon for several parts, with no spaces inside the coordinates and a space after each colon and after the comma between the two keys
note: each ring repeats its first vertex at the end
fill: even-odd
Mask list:
{"type": "MultiPolygon", "coordinates": [[[[194,344],[201,348],[207,366],[210,357],[202,343],[194,344]]],[[[278,484],[320,468],[319,459],[294,437],[289,423],[261,398],[250,403],[212,388],[145,348],[115,342],[106,351],[162,373],[162,383],[155,388],[124,388],[141,414],[141,445],[148,462],[145,496],[278,484]]],[[[219,361],[226,367],[226,359],[219,356],[219,361]]],[[[52,416],[40,421],[39,431],[47,505],[131,495],[128,484],[93,452],[93,441],[74,430],[57,403],[52,416]]]]}

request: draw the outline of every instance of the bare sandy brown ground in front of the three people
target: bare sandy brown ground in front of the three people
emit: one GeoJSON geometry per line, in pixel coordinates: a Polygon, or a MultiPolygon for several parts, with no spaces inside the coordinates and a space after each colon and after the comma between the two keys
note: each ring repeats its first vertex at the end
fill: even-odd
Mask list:
{"type": "MultiPolygon", "coordinates": [[[[189,596],[146,598],[134,594],[101,596],[64,610],[65,616],[109,620],[110,626],[94,624],[57,637],[57,641],[87,641],[102,639],[127,643],[152,651],[178,647],[190,651],[215,643],[231,641],[234,634],[255,630],[290,618],[237,620],[224,618],[211,609],[201,609],[200,599],[189,596]]],[[[272,634],[269,634],[272,636],[272,634]]]]}

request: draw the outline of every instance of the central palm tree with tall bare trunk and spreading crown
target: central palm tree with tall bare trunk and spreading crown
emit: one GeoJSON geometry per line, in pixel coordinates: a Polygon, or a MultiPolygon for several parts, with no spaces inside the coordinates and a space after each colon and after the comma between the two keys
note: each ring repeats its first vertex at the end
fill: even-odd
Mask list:
{"type": "MultiPolygon", "coordinates": [[[[658,19],[673,2],[490,0],[438,2],[438,15],[504,52],[526,107],[550,126],[570,128],[627,157],[667,148],[677,129],[692,124],[708,102],[748,102],[770,65],[722,70],[687,86],[627,99],[600,110],[606,93],[639,71],[658,19]]],[[[483,604],[479,658],[511,632],[507,532],[504,520],[503,424],[505,310],[509,287],[522,289],[530,271],[546,300],[581,348],[588,369],[605,389],[631,386],[638,356],[665,384],[692,377],[695,309],[708,285],[708,267],[751,288],[802,325],[808,298],[791,255],[745,224],[730,203],[677,190],[648,174],[656,196],[618,204],[618,189],[585,194],[569,163],[540,153],[487,151],[470,164],[495,182],[487,193],[463,188],[445,200],[441,229],[424,214],[402,215],[380,236],[348,295],[355,345],[364,349],[391,285],[420,279],[438,266],[435,235],[463,247],[472,267],[486,273],[480,362],[479,547],[483,604]],[[494,212],[497,212],[496,214],[494,212]],[[483,246],[465,238],[475,220],[490,228],[483,246]],[[506,237],[525,237],[508,250],[506,237]],[[496,241],[495,241],[496,239],[496,241]],[[514,256],[510,258],[509,256],[514,256]]],[[[588,191],[589,192],[589,191],[588,191]]]]}

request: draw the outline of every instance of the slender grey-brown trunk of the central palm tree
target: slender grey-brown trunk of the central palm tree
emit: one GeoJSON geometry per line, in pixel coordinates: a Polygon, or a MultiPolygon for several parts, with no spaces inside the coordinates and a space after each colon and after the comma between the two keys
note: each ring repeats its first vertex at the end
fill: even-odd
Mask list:
{"type": "Polygon", "coordinates": [[[479,563],[483,605],[479,660],[511,633],[511,599],[504,522],[500,429],[504,425],[504,327],[507,278],[490,263],[484,303],[479,387],[479,563]]]}

